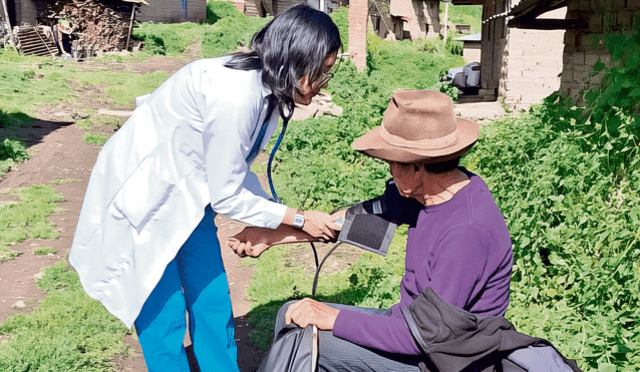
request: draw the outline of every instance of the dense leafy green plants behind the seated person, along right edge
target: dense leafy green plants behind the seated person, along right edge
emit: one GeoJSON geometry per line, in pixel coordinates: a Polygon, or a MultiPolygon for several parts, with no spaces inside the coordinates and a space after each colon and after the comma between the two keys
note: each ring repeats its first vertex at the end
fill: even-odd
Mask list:
{"type": "Polygon", "coordinates": [[[484,128],[467,159],[514,243],[512,306],[525,333],[587,371],[640,369],[640,37],[607,35],[582,104],[553,94],[484,128]]]}

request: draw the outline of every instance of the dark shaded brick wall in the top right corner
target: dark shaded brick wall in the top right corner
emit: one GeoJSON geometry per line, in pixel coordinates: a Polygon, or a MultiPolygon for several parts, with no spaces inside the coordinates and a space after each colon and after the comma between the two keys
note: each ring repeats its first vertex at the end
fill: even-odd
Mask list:
{"type": "Polygon", "coordinates": [[[611,64],[605,33],[631,31],[640,22],[640,0],[568,0],[567,8],[568,19],[581,19],[589,25],[565,35],[560,92],[576,96],[598,58],[611,64]]]}

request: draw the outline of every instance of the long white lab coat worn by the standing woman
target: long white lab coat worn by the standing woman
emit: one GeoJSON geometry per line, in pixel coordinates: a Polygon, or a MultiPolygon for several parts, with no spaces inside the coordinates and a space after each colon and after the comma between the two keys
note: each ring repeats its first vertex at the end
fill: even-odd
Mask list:
{"type": "Polygon", "coordinates": [[[137,100],[93,168],[69,262],[89,296],[127,327],[209,203],[259,227],[284,218],[286,207],[268,200],[245,161],[269,91],[260,72],[225,68],[228,58],[193,62],[137,100]]]}

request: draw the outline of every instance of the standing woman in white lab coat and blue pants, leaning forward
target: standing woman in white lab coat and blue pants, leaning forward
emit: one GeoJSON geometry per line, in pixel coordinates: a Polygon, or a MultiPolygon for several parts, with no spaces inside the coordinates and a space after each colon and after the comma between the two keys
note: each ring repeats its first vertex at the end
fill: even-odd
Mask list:
{"type": "Polygon", "coordinates": [[[193,62],[137,99],[102,148],[69,261],[91,297],[135,324],[149,371],[189,370],[185,310],[200,370],[238,370],[216,214],[333,237],[329,215],[273,202],[249,167],[278,116],[326,86],[340,48],[328,15],[296,5],[250,52],[193,62]]]}

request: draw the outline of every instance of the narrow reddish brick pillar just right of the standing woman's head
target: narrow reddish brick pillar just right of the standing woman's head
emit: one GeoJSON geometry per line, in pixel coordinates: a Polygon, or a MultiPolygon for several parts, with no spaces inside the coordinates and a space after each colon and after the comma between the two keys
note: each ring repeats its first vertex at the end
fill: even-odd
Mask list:
{"type": "Polygon", "coordinates": [[[367,18],[369,2],[351,0],[349,2],[349,54],[360,71],[367,65],[367,18]]]}

